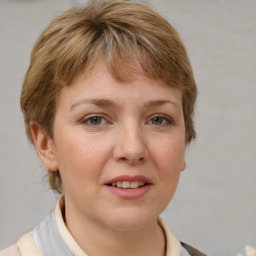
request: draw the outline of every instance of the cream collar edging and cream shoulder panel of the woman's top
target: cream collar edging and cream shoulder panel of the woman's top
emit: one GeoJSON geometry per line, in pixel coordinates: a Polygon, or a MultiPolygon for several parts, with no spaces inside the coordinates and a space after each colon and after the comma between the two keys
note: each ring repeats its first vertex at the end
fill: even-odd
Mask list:
{"type": "MultiPolygon", "coordinates": [[[[87,256],[80,246],[76,243],[75,239],[72,237],[68,231],[63,217],[63,199],[60,199],[55,207],[55,217],[57,222],[57,227],[59,232],[64,239],[65,243],[75,256],[87,256]]],[[[163,229],[163,232],[166,237],[166,256],[179,256],[180,255],[180,243],[175,238],[171,230],[167,227],[164,221],[158,217],[158,223],[163,229]]],[[[5,251],[0,252],[0,256],[40,256],[32,233],[27,233],[23,235],[17,242],[17,245],[7,248],[5,251]],[[19,252],[20,250],[20,252],[19,252]]]]}

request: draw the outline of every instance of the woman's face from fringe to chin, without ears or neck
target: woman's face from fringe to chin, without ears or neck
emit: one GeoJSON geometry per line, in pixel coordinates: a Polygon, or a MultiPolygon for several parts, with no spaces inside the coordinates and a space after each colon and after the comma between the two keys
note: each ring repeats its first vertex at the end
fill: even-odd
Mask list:
{"type": "Polygon", "coordinates": [[[52,144],[67,216],[143,227],[166,208],[185,168],[181,92],[140,75],[120,83],[100,63],[61,90],[52,144]]]}

